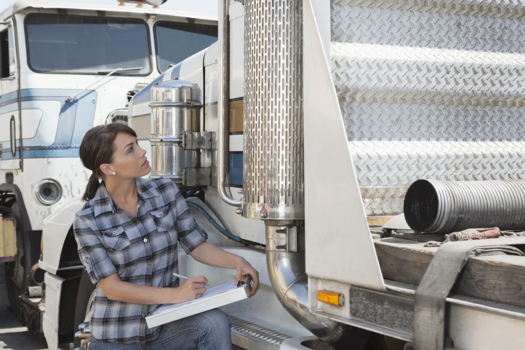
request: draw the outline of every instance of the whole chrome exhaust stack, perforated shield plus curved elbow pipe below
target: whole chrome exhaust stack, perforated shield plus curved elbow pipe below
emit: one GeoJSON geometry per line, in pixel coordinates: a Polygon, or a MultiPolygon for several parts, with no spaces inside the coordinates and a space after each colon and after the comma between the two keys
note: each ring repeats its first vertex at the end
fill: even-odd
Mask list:
{"type": "Polygon", "coordinates": [[[281,304],[332,343],[345,326],[309,312],[304,259],[302,1],[246,0],[244,37],[241,213],[265,221],[268,273],[281,304]]]}

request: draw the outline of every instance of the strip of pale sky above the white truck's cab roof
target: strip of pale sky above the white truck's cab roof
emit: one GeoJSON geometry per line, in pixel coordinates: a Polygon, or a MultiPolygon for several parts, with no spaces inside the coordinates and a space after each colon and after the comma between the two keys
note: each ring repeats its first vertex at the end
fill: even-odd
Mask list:
{"type": "MultiPolygon", "coordinates": [[[[37,0],[39,1],[39,0],[37,0]]],[[[43,0],[44,1],[44,0],[43,0]]],[[[118,5],[117,0],[52,0],[59,3],[85,3],[85,4],[101,4],[101,5],[118,5]]],[[[0,13],[6,9],[15,0],[0,0],[0,13]]],[[[164,9],[173,9],[181,11],[195,11],[206,13],[217,13],[218,0],[167,0],[161,6],[164,9]]],[[[126,4],[126,6],[134,6],[133,4],[126,4]]],[[[144,5],[150,6],[150,5],[144,5]]]]}

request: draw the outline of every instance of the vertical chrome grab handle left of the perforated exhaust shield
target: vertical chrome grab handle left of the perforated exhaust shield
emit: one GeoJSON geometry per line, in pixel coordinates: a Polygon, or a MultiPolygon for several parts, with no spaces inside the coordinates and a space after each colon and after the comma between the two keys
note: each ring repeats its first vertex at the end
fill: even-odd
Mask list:
{"type": "Polygon", "coordinates": [[[227,204],[240,207],[241,199],[229,197],[226,194],[225,178],[226,178],[226,142],[229,137],[226,132],[226,124],[229,120],[226,119],[226,113],[229,113],[229,81],[227,74],[229,74],[228,67],[228,1],[219,0],[219,10],[222,14],[219,16],[219,33],[218,33],[218,65],[219,65],[219,81],[218,81],[218,97],[217,97],[217,190],[219,197],[227,204]]]}

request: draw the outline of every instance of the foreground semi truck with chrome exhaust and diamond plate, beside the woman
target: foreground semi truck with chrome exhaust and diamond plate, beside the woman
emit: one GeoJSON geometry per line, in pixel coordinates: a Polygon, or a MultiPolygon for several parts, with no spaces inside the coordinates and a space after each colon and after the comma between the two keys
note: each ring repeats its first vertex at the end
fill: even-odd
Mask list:
{"type": "MultiPolygon", "coordinates": [[[[223,307],[233,343],[522,348],[525,241],[509,215],[523,211],[525,3],[218,7],[218,41],[135,94],[128,123],[150,176],[171,178],[208,240],[260,271],[254,298],[223,307]],[[414,191],[419,204],[408,201],[414,191]],[[478,211],[460,198],[479,200],[478,211]],[[478,235],[487,222],[518,231],[443,243],[458,226],[418,228],[408,220],[417,214],[439,227],[463,220],[478,235]]],[[[51,251],[71,237],[80,206],[56,210],[43,229],[40,266],[56,305],[68,277],[50,267],[75,253],[51,251]]],[[[179,266],[212,285],[234,279],[182,252],[179,266]]],[[[83,275],[78,295],[89,299],[88,282],[83,275]]],[[[89,301],[82,306],[87,340],[89,301]]],[[[46,322],[66,322],[59,310],[46,308],[46,322]]]]}

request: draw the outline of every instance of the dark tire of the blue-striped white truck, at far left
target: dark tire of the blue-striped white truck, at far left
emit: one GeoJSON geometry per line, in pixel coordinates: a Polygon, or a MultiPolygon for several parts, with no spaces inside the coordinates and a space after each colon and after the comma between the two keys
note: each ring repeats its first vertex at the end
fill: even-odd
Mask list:
{"type": "Polygon", "coordinates": [[[29,270],[38,262],[39,237],[32,232],[24,232],[25,225],[20,218],[18,204],[13,204],[13,217],[16,220],[16,255],[15,261],[6,262],[5,285],[7,297],[12,311],[19,314],[20,304],[18,296],[26,292],[29,287],[29,270]]]}

